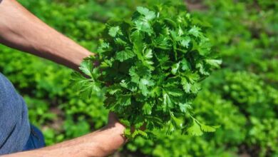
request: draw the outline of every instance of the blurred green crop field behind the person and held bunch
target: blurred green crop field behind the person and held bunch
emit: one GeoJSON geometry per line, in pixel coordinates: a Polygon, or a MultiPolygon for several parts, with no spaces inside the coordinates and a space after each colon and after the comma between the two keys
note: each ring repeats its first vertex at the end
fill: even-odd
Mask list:
{"type": "MultiPolygon", "coordinates": [[[[155,0],[20,0],[32,13],[90,51],[105,21],[126,18],[155,0]]],[[[278,1],[190,0],[187,9],[210,26],[207,36],[222,69],[207,78],[195,114],[220,124],[201,137],[157,131],[137,138],[113,156],[278,156],[278,1]]],[[[29,106],[31,123],[51,145],[95,131],[108,111],[101,100],[81,99],[70,86],[71,70],[0,45],[0,71],[29,106]]]]}

